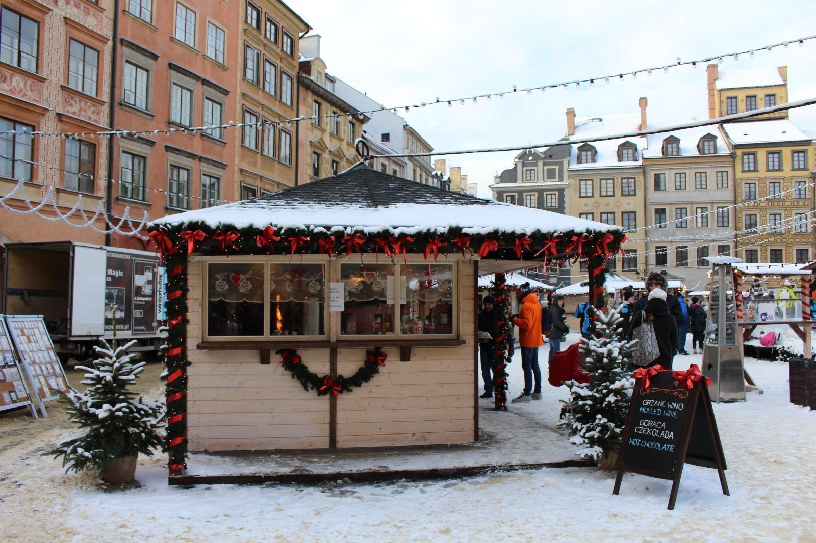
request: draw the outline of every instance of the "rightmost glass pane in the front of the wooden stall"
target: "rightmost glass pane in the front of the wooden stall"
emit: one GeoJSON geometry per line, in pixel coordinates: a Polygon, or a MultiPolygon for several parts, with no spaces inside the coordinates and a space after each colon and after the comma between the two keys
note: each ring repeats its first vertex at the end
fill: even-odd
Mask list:
{"type": "Polygon", "coordinates": [[[454,267],[400,267],[400,333],[454,332],[454,267]]]}

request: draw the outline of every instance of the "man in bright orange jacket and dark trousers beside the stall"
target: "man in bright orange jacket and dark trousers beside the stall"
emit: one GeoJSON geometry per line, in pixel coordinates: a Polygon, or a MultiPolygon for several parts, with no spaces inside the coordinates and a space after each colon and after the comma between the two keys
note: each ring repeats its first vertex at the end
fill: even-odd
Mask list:
{"type": "Polygon", "coordinates": [[[541,304],[539,297],[530,291],[530,283],[516,289],[521,309],[512,324],[518,326],[518,344],[521,347],[521,369],[524,370],[524,391],[513,404],[530,400],[541,400],[541,369],[539,368],[539,347],[544,344],[541,335],[541,304]],[[533,387],[535,378],[535,387],[533,387]],[[532,394],[530,394],[532,393],[532,394]]]}

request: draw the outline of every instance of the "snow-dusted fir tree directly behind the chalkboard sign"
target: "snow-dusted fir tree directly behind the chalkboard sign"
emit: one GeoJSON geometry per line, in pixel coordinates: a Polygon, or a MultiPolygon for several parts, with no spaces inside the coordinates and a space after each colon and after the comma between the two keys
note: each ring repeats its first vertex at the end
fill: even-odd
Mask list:
{"type": "Polygon", "coordinates": [[[623,339],[623,319],[616,309],[606,315],[595,310],[595,315],[594,335],[581,339],[590,381],[564,383],[570,388],[570,400],[564,402],[558,426],[570,430],[570,443],[580,448],[582,458],[607,467],[618,452],[626,425],[635,386],[629,367],[636,342],[623,339]]]}

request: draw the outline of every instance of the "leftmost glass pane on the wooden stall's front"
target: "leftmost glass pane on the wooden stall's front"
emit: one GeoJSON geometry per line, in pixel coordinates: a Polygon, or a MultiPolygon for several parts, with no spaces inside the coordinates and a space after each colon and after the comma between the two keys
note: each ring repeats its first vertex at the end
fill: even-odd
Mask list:
{"type": "Polygon", "coordinates": [[[264,335],[264,264],[207,267],[207,333],[264,335]]]}

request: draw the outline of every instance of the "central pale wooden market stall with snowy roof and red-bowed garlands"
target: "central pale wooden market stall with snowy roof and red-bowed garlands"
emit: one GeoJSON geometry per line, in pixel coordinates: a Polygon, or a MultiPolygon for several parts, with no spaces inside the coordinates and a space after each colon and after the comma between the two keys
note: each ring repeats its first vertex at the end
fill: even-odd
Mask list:
{"type": "Polygon", "coordinates": [[[506,326],[502,272],[583,255],[601,294],[623,238],[364,163],[151,228],[168,274],[171,479],[188,451],[477,440],[477,277],[499,274],[506,326]]]}

